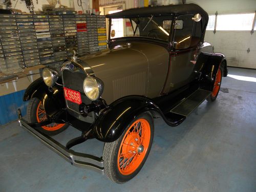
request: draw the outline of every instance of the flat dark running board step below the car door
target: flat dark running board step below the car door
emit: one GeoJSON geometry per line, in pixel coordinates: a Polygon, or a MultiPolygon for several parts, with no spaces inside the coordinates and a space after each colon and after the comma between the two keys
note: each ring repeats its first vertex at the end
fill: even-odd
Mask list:
{"type": "Polygon", "coordinates": [[[176,113],[183,116],[188,116],[191,112],[193,112],[209,95],[210,91],[206,91],[203,89],[198,89],[193,94],[184,99],[181,103],[179,103],[175,108],[170,110],[172,113],[176,113]]]}

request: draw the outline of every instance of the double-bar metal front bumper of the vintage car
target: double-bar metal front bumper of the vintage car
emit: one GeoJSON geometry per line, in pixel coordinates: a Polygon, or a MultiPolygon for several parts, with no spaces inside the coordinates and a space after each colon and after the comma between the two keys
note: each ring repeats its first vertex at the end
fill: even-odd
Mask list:
{"type": "Polygon", "coordinates": [[[54,140],[52,137],[44,133],[40,133],[36,129],[33,129],[29,123],[22,118],[21,115],[19,115],[18,122],[19,125],[24,127],[25,130],[39,139],[60,157],[70,162],[72,165],[93,169],[101,174],[104,174],[104,161],[102,158],[69,150],[67,147],[54,140]]]}

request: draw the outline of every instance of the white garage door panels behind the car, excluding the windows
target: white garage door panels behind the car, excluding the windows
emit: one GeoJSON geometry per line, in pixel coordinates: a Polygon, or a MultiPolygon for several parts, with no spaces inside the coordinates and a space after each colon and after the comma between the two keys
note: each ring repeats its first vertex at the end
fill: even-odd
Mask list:
{"type": "MultiPolygon", "coordinates": [[[[220,14],[254,13],[255,0],[215,0],[215,1],[187,1],[200,5],[209,15],[218,11],[220,14]]],[[[217,17],[218,22],[218,17],[217,17]]],[[[227,58],[227,65],[240,68],[256,69],[256,31],[206,31],[205,40],[214,46],[215,52],[223,53],[227,58]],[[248,48],[250,52],[247,53],[248,48]]]]}

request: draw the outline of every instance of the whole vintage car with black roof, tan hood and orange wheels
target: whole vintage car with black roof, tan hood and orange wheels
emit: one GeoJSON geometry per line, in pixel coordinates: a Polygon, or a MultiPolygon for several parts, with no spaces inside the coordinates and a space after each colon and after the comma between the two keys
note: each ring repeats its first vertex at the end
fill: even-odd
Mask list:
{"type": "Polygon", "coordinates": [[[154,137],[154,118],[177,126],[205,99],[215,101],[227,76],[223,54],[204,41],[207,13],[198,5],[136,8],[106,15],[109,48],[74,55],[61,72],[45,68],[27,88],[27,119],[19,123],[73,165],[94,168],[114,182],[135,177],[154,137]],[[124,33],[112,25],[123,22],[124,33]],[[81,136],[54,140],[71,125],[81,136]],[[102,157],[71,150],[104,142],[102,157]]]}

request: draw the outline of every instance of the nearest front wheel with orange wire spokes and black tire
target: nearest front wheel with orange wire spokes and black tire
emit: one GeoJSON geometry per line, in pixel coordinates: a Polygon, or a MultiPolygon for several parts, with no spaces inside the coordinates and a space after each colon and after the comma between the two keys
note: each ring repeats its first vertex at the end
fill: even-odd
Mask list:
{"type": "Polygon", "coordinates": [[[140,114],[126,127],[123,134],[116,141],[111,143],[105,143],[104,150],[103,150],[105,175],[110,180],[116,183],[124,183],[134,178],[139,173],[140,169],[142,168],[142,166],[144,165],[147,159],[148,154],[150,153],[153,138],[154,138],[153,117],[148,113],[140,114]],[[134,123],[137,123],[137,122],[138,122],[137,125],[139,125],[139,128],[137,126],[137,129],[136,129],[136,127],[134,128],[133,125],[134,123]],[[143,128],[141,128],[142,127],[141,123],[144,125],[143,128]],[[150,126],[150,127],[147,127],[147,126],[150,126]],[[144,132],[143,132],[143,129],[144,129],[144,132]],[[130,131],[137,130],[137,132],[130,133],[128,130],[130,131]],[[150,130],[150,134],[148,135],[149,130],[150,130]],[[132,136],[131,134],[136,134],[136,133],[137,134],[139,133],[140,135],[138,136],[138,138],[135,138],[136,136],[131,137],[132,136]],[[133,141],[135,142],[135,144],[127,142],[127,141],[131,141],[129,140],[129,138],[133,138],[134,139],[133,141]],[[126,144],[126,142],[129,144],[126,144]],[[130,144],[135,146],[132,146],[130,144]],[[129,147],[130,148],[133,147],[135,151],[132,151],[132,152],[129,151],[129,153],[126,153],[129,147]],[[122,153],[125,153],[125,155],[122,155],[122,153]],[[127,154],[130,154],[131,157],[125,157],[127,154]]]}

